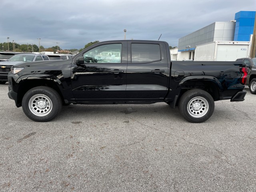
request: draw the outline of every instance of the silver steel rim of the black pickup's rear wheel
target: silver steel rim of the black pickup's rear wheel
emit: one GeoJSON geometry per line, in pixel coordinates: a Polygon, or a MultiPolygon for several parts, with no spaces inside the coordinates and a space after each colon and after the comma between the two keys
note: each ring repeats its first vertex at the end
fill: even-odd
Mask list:
{"type": "Polygon", "coordinates": [[[209,110],[208,101],[202,97],[194,97],[188,102],[188,113],[195,118],[204,116],[209,110]]]}

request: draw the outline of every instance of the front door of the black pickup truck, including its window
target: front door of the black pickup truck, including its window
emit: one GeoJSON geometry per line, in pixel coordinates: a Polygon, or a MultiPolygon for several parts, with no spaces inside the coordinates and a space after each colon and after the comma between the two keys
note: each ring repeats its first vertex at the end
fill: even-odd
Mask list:
{"type": "Polygon", "coordinates": [[[127,42],[96,44],[73,59],[72,90],[76,102],[126,98],[127,42]],[[77,64],[83,57],[84,64],[77,64]]]}

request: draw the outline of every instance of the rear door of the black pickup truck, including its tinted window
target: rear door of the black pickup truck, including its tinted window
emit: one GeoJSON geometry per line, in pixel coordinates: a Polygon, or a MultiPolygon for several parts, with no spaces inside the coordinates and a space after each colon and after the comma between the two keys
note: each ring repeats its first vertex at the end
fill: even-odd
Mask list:
{"type": "Polygon", "coordinates": [[[128,42],[126,95],[130,100],[164,98],[168,85],[168,60],[162,42],[128,42]]]}

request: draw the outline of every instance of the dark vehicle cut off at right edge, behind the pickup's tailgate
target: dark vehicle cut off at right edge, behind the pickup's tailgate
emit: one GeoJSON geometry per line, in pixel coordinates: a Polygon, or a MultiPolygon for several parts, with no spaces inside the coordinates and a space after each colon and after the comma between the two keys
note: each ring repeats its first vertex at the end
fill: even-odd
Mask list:
{"type": "Polygon", "coordinates": [[[256,94],[256,58],[239,58],[236,61],[245,62],[248,68],[246,85],[249,86],[252,94],[256,94]]]}

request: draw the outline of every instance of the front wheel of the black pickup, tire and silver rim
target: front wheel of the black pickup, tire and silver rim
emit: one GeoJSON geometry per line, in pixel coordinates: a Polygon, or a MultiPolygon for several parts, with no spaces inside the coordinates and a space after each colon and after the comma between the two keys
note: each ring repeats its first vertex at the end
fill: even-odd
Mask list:
{"type": "Polygon", "coordinates": [[[22,109],[31,120],[46,122],[59,114],[62,100],[54,89],[39,86],[26,92],[22,99],[22,109]]]}

